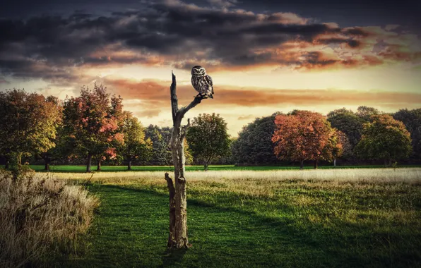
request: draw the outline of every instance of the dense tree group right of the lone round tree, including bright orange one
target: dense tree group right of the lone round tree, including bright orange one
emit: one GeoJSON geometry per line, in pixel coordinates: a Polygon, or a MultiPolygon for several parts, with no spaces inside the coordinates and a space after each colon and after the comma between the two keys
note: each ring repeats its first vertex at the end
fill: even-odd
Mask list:
{"type": "Polygon", "coordinates": [[[421,109],[386,114],[373,107],[276,112],[244,126],[232,144],[233,162],[245,165],[290,164],[320,160],[361,163],[402,159],[420,162],[421,109]]]}

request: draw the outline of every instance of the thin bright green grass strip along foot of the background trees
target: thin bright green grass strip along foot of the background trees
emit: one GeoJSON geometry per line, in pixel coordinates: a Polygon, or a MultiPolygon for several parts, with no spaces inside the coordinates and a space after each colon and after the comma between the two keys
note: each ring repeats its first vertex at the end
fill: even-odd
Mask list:
{"type": "MultiPolygon", "coordinates": [[[[384,166],[337,166],[336,169],[381,169],[384,166]]],[[[405,165],[399,167],[421,167],[420,165],[405,165]]],[[[30,165],[31,169],[35,171],[44,171],[43,165],[30,165]]],[[[51,166],[52,172],[85,172],[86,166],[51,166]]],[[[95,171],[96,166],[92,166],[95,171]]],[[[101,166],[100,172],[114,172],[114,171],[128,171],[127,166],[101,166]]],[[[133,171],[174,171],[173,166],[132,166],[133,171]]],[[[300,166],[234,166],[234,165],[213,165],[209,166],[211,171],[239,171],[239,170],[254,170],[254,171],[270,171],[270,170],[295,170],[300,169],[300,166]]],[[[304,166],[304,169],[313,169],[313,166],[304,166]]],[[[333,166],[319,166],[319,169],[334,169],[333,166]]],[[[186,171],[201,171],[203,166],[186,166],[186,171]]],[[[130,172],[130,171],[128,171],[130,172]]]]}

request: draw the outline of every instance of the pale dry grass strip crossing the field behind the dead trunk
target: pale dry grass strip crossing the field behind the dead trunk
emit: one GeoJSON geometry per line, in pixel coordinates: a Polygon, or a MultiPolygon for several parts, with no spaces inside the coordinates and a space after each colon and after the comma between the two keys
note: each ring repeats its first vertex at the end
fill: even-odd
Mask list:
{"type": "MultiPolygon", "coordinates": [[[[54,176],[70,180],[90,180],[102,183],[132,183],[162,181],[164,171],[131,171],[99,173],[54,173],[54,176]]],[[[171,176],[171,173],[170,173],[171,176]]],[[[333,183],[421,183],[420,168],[405,169],[319,169],[278,171],[186,171],[188,181],[331,181],[333,183]]]]}

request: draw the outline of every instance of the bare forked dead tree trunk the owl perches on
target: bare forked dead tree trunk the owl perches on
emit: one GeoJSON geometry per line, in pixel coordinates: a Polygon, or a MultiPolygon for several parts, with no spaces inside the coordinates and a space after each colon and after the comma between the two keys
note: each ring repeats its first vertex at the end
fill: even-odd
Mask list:
{"type": "Polygon", "coordinates": [[[168,236],[168,248],[189,248],[189,238],[187,236],[187,198],[186,198],[186,176],[184,175],[186,157],[184,156],[184,138],[186,138],[187,128],[182,126],[182,119],[187,111],[201,103],[203,97],[195,97],[188,106],[178,109],[177,82],[172,73],[172,83],[170,87],[171,108],[172,108],[172,129],[171,150],[174,162],[174,182],[165,173],[168,190],[170,192],[170,234],[168,236]]]}

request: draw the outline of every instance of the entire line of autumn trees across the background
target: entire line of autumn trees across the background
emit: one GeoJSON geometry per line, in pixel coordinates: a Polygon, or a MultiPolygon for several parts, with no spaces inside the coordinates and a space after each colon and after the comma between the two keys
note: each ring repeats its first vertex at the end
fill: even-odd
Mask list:
{"type": "MultiPolygon", "coordinates": [[[[0,155],[8,164],[42,159],[49,164],[171,165],[172,128],[144,127],[122,99],[103,85],[78,97],[44,97],[25,90],[0,92],[0,155]]],[[[386,114],[373,107],[337,109],[324,116],[294,110],[256,118],[238,138],[218,114],[194,118],[186,133],[186,164],[291,164],[421,159],[421,109],[386,114]]]]}

